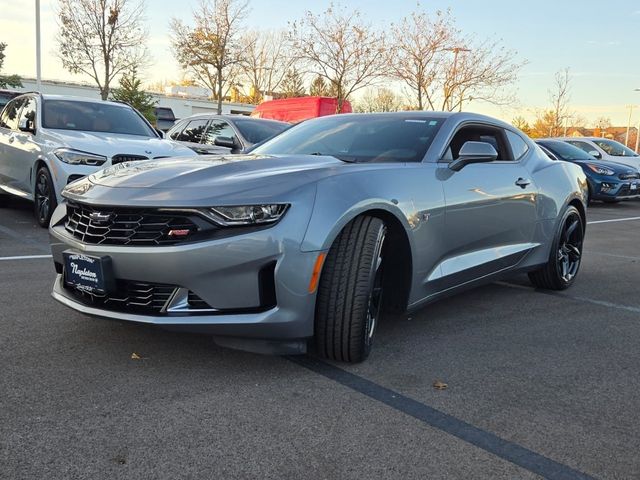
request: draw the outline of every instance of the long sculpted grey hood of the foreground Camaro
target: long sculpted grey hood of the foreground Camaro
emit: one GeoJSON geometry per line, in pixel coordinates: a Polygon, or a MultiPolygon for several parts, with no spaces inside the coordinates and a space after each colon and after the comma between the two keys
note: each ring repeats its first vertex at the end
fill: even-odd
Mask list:
{"type": "Polygon", "coordinates": [[[63,196],[100,205],[198,205],[265,201],[321,178],[381,164],[349,164],[312,155],[199,155],[126,162],[68,185],[63,196]]]}

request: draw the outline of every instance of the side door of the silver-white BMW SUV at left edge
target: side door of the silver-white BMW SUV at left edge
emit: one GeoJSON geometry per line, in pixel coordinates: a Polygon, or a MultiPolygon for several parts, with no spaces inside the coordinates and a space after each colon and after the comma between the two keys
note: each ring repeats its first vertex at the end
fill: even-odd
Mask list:
{"type": "Polygon", "coordinates": [[[18,121],[20,110],[24,105],[25,97],[18,97],[11,100],[5,106],[0,116],[0,184],[17,195],[25,195],[23,189],[18,188],[19,176],[16,166],[19,164],[16,156],[19,155],[16,149],[16,133],[18,132],[18,121]]]}

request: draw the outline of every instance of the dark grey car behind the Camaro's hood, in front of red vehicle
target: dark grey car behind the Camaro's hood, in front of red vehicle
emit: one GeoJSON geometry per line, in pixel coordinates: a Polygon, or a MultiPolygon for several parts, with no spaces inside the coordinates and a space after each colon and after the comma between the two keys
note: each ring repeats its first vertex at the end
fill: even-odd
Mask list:
{"type": "Polygon", "coordinates": [[[182,119],[169,130],[167,137],[202,155],[240,153],[290,126],[244,115],[203,113],[182,119]]]}

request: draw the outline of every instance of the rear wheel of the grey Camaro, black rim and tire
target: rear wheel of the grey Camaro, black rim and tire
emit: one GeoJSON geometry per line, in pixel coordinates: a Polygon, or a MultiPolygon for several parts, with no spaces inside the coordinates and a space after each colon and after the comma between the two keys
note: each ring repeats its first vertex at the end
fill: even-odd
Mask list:
{"type": "Polygon", "coordinates": [[[539,270],[529,272],[531,283],[547,290],[569,288],[580,269],[583,241],[584,222],[580,212],[570,205],[562,216],[549,260],[539,270]]]}

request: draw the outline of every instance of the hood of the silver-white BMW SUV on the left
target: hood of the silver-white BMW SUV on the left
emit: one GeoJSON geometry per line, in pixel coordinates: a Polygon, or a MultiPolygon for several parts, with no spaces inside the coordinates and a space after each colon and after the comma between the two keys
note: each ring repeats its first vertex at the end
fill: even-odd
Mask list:
{"type": "Polygon", "coordinates": [[[150,158],[195,155],[193,150],[177,142],[140,135],[52,129],[48,129],[47,133],[60,145],[106,157],[118,154],[150,158]]]}

